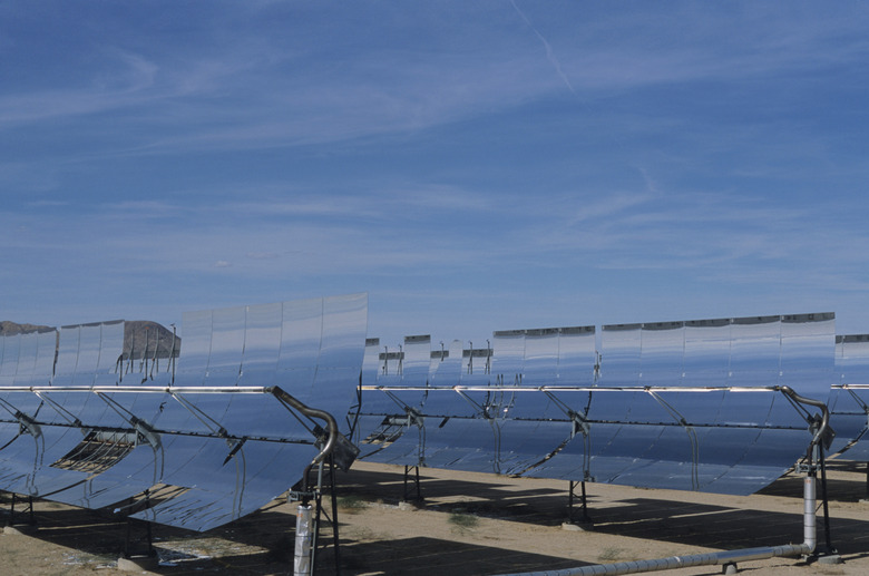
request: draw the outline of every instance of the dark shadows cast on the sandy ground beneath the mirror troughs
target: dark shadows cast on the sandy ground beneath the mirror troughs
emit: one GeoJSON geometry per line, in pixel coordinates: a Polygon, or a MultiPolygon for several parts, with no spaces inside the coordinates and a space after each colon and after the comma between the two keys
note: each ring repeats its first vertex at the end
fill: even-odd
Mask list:
{"type": "MultiPolygon", "coordinates": [[[[828,486],[831,501],[857,501],[865,495],[862,469],[836,462],[832,470],[850,474],[849,478],[831,479],[828,486]]],[[[404,497],[401,471],[351,470],[339,476],[340,494],[353,495],[367,501],[397,504],[404,497]]],[[[421,478],[421,506],[430,510],[462,510],[479,516],[530,525],[558,526],[567,516],[567,482],[565,490],[491,481],[445,480],[421,478]]],[[[802,479],[785,477],[763,494],[793,499],[793,512],[772,512],[750,508],[751,498],[741,506],[720,506],[678,501],[661,497],[661,491],[633,491],[636,497],[603,501],[589,486],[589,515],[594,530],[602,534],[668,541],[686,546],[735,549],[802,541],[802,479]],[[643,497],[648,494],[648,497],[643,497]],[[597,505],[597,506],[596,506],[597,505]],[[744,506],[743,506],[744,505],[744,506]]],[[[673,492],[678,494],[678,492],[673,492]]],[[[2,499],[9,508],[9,495],[2,499]]],[[[18,505],[20,506],[20,504],[18,505]]],[[[133,540],[141,541],[145,524],[128,524],[108,514],[71,508],[50,501],[35,506],[39,525],[35,538],[72,548],[82,555],[117,559],[125,547],[127,529],[133,540]]],[[[155,546],[162,551],[164,565],[156,574],[287,574],[292,572],[294,516],[293,508],[275,501],[263,510],[198,534],[155,525],[155,546]],[[170,543],[170,546],[169,546],[170,543]]],[[[819,540],[823,541],[819,518],[819,540]]],[[[833,518],[833,545],[842,554],[869,556],[869,521],[833,518]]],[[[326,528],[321,541],[330,540],[326,528]]],[[[413,537],[378,541],[352,541],[341,538],[343,574],[431,574],[449,572],[451,576],[498,574],[558,569],[579,563],[565,558],[510,551],[436,538],[413,537]]],[[[321,574],[332,574],[332,550],[321,554],[321,574]]]]}

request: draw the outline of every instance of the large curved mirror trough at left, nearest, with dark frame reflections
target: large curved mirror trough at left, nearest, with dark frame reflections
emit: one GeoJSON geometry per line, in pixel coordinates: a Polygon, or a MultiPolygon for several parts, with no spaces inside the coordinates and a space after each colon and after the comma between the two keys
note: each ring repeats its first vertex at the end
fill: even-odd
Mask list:
{"type": "Polygon", "coordinates": [[[0,489],[87,508],[158,494],[134,517],[194,530],[253,512],[320,453],[324,422],[304,407],[353,402],[367,307],[355,294],[189,313],[183,340],[155,330],[138,354],[124,322],[4,336],[0,489]]]}

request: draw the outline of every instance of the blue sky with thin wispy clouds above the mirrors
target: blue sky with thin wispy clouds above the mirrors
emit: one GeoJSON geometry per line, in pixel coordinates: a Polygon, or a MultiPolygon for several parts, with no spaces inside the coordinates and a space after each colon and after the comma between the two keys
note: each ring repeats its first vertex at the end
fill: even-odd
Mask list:
{"type": "Polygon", "coordinates": [[[869,331],[859,2],[0,3],[0,319],[869,331]]]}

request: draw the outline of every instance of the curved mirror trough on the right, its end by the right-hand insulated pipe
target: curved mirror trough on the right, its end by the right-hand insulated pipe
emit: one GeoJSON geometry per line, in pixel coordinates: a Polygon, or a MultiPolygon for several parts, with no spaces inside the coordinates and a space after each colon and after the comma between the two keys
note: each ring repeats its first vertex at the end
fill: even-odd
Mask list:
{"type": "Polygon", "coordinates": [[[427,398],[365,458],[750,494],[804,451],[803,416],[775,387],[826,400],[833,334],[827,313],[605,325],[598,358],[594,328],[496,332],[489,374],[367,387],[369,422],[365,398],[383,406],[407,385],[427,398]]]}

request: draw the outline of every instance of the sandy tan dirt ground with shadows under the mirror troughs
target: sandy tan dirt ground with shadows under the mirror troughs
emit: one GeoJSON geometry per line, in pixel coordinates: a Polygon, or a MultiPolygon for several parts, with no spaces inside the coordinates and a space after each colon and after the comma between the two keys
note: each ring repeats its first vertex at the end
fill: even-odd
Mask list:
{"type": "MultiPolygon", "coordinates": [[[[341,574],[450,576],[555,570],[588,564],[690,555],[802,541],[802,478],[791,475],[761,494],[717,496],[588,485],[585,530],[566,529],[565,481],[512,479],[422,469],[423,500],[403,502],[404,469],[357,462],[339,474],[341,574]]],[[[831,541],[842,564],[777,558],[739,565],[744,574],[869,574],[869,502],[865,465],[828,467],[831,541]]],[[[409,495],[416,496],[413,484],[409,495]]],[[[10,495],[2,511],[9,519],[10,495]]],[[[205,534],[155,525],[160,563],[148,574],[292,574],[297,504],[275,500],[258,512],[205,534]]],[[[50,501],[36,501],[30,535],[0,534],[0,574],[118,573],[127,530],[145,525],[50,501]]],[[[14,521],[23,521],[21,501],[14,521]]],[[[326,509],[331,516],[331,507],[326,509]]],[[[579,519],[582,511],[574,509],[579,519]]],[[[818,539],[826,541],[822,518],[818,539]]],[[[328,523],[321,544],[332,543],[328,523]]],[[[334,550],[320,549],[318,574],[334,574],[334,550]]],[[[721,574],[720,566],[671,570],[721,574]]],[[[130,574],[130,573],[128,573],[130,574]]]]}

